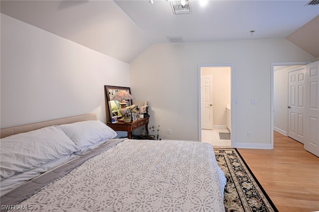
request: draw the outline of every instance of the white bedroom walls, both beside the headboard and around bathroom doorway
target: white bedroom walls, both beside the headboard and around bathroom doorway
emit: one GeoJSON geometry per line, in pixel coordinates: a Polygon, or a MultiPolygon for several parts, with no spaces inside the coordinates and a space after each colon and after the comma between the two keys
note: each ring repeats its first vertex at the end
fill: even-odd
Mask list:
{"type": "Polygon", "coordinates": [[[156,44],[129,65],[1,14],[1,128],[87,112],[105,121],[103,86],[131,85],[162,138],[198,140],[198,64],[234,64],[233,144],[259,147],[271,141],[271,63],[315,60],[271,39],[156,44]]]}

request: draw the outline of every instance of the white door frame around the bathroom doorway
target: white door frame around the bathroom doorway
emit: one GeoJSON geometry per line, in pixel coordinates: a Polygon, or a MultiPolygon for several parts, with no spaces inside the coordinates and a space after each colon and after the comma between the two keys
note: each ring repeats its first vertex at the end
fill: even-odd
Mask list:
{"type": "Polygon", "coordinates": [[[230,67],[230,85],[231,85],[231,98],[230,98],[230,106],[231,106],[231,146],[234,143],[234,134],[235,134],[235,127],[234,127],[234,64],[198,64],[198,141],[201,141],[201,68],[203,67],[230,67]]]}

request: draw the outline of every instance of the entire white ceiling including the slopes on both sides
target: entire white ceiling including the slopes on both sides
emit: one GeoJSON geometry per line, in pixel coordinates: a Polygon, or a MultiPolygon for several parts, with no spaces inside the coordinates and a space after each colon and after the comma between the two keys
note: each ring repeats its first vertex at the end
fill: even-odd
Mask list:
{"type": "Polygon", "coordinates": [[[319,5],[308,0],[1,0],[1,13],[130,63],[167,36],[185,42],[287,38],[319,57],[319,5]],[[251,36],[250,30],[255,30],[251,36]]]}

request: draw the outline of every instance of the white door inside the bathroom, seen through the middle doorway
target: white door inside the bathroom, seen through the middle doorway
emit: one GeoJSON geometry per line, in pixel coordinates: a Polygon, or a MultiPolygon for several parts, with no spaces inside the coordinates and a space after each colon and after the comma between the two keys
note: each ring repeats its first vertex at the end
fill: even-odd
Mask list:
{"type": "Polygon", "coordinates": [[[213,76],[201,76],[201,128],[213,129],[213,76]]]}

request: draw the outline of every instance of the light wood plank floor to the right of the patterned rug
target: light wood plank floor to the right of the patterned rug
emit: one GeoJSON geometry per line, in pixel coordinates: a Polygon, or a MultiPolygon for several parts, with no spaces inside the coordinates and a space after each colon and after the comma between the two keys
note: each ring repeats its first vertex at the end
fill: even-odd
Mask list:
{"type": "Polygon", "coordinates": [[[238,149],[279,212],[319,211],[319,157],[274,132],[274,149],[238,149]]]}

